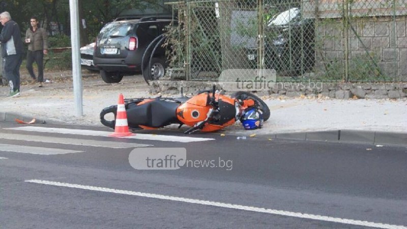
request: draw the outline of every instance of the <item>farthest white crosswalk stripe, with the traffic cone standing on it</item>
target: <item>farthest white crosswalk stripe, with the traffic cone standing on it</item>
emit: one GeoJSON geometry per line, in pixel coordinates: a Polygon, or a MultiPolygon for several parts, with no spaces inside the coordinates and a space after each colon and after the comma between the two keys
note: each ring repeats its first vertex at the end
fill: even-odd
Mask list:
{"type": "MultiPolygon", "coordinates": [[[[15,128],[5,128],[7,130],[24,130],[24,131],[36,131],[36,132],[46,132],[46,133],[62,133],[62,134],[79,134],[79,135],[89,135],[89,136],[108,136],[112,132],[109,131],[98,131],[98,130],[77,130],[77,129],[66,129],[66,128],[47,128],[47,127],[37,127],[37,126],[25,126],[25,127],[15,127],[15,128]]],[[[158,140],[158,141],[176,141],[176,142],[193,142],[193,141],[208,141],[215,140],[214,138],[202,138],[202,137],[183,137],[183,136],[171,136],[171,135],[157,135],[157,134],[140,134],[123,137],[141,140],[158,140]]]]}

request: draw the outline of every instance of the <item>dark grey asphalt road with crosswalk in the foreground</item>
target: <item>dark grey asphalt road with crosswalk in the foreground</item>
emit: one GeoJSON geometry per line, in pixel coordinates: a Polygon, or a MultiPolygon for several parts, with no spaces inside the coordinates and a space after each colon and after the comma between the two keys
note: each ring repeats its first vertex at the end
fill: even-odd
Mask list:
{"type": "Polygon", "coordinates": [[[159,136],[188,140],[175,130],[138,135],[153,140],[117,139],[58,133],[106,128],[21,127],[27,126],[0,123],[2,228],[407,226],[405,147],[159,136]],[[185,148],[191,163],[174,170],[137,170],[129,163],[129,154],[147,149],[153,155],[158,148],[185,148]]]}

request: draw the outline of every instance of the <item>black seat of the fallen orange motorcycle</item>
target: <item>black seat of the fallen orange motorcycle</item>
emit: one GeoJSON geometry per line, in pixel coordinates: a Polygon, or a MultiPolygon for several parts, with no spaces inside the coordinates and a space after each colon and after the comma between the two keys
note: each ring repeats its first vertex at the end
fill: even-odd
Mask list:
{"type": "Polygon", "coordinates": [[[126,109],[129,126],[163,127],[171,123],[179,123],[177,107],[179,103],[153,100],[141,105],[130,103],[126,109]]]}

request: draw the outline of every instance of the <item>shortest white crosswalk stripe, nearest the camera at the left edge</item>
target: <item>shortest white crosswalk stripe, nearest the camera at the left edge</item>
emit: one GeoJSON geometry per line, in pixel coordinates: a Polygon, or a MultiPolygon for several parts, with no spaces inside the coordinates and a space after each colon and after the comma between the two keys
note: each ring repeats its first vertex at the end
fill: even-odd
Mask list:
{"type": "Polygon", "coordinates": [[[42,155],[83,153],[83,151],[75,151],[75,150],[63,150],[63,149],[44,148],[44,147],[16,146],[16,145],[8,145],[8,144],[0,144],[0,151],[26,153],[26,154],[42,154],[42,155]]]}

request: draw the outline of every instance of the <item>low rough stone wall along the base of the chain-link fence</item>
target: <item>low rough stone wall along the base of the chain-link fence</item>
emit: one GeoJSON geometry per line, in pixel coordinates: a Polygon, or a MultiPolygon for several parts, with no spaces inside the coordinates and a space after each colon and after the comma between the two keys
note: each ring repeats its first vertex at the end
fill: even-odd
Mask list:
{"type": "MultiPolygon", "coordinates": [[[[150,94],[180,95],[183,88],[184,95],[194,95],[200,90],[212,89],[212,85],[221,89],[216,82],[197,81],[152,81],[150,94]]],[[[227,92],[231,94],[232,92],[227,92]]],[[[276,83],[268,91],[256,92],[259,96],[315,96],[337,99],[366,98],[366,99],[398,99],[407,97],[407,83],[310,83],[285,82],[276,83]]]]}

